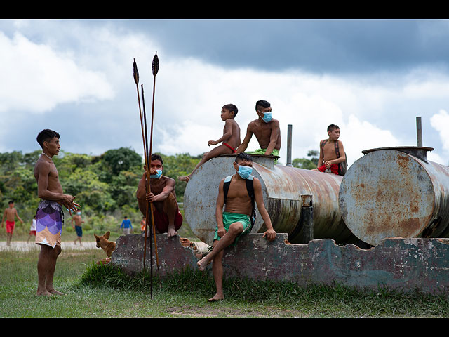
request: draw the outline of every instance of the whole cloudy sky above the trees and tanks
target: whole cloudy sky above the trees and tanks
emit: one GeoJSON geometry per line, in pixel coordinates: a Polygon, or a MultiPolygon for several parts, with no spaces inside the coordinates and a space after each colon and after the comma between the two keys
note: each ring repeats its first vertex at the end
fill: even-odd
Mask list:
{"type": "MultiPolygon", "coordinates": [[[[415,146],[449,164],[448,20],[0,20],[0,152],[142,150],[133,60],[151,113],[153,152],[201,154],[222,136],[222,105],[239,107],[241,138],[268,100],[286,162],[319,150],[340,126],[349,164],[362,150],[415,146]]],[[[252,140],[248,150],[258,147],[252,140]]]]}

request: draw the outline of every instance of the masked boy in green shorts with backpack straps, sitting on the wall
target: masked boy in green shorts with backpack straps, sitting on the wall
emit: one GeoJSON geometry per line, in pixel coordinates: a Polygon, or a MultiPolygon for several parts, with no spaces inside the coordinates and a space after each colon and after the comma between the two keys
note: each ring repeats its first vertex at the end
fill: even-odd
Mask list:
{"type": "Polygon", "coordinates": [[[257,209],[259,209],[260,215],[267,227],[267,231],[264,232],[263,237],[267,237],[269,241],[273,241],[276,238],[276,232],[273,229],[272,221],[264,206],[260,180],[250,175],[253,169],[253,158],[251,158],[249,154],[241,153],[236,157],[236,161],[234,161],[233,165],[236,173],[230,177],[226,200],[224,187],[227,178],[222,179],[218,187],[217,207],[215,210],[217,227],[215,230],[213,250],[197,263],[199,270],[205,270],[210,261],[213,263],[212,271],[217,293],[215,293],[213,298],[209,299],[210,302],[225,298],[222,287],[222,258],[225,248],[236,244],[239,238],[250,232],[252,228],[250,214],[253,211],[253,201],[248,194],[246,187],[246,180],[248,179],[253,180],[255,203],[257,204],[257,209]],[[223,211],[224,205],[226,205],[225,211],[223,211]]]}

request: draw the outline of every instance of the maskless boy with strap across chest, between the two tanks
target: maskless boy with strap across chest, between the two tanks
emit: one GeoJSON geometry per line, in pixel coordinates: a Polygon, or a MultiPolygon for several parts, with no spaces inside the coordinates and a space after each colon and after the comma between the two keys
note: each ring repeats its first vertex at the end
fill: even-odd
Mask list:
{"type": "Polygon", "coordinates": [[[320,142],[320,157],[318,167],[313,171],[344,175],[340,164],[346,161],[343,143],[340,138],[340,128],[335,124],[328,126],[328,139],[320,142]]]}

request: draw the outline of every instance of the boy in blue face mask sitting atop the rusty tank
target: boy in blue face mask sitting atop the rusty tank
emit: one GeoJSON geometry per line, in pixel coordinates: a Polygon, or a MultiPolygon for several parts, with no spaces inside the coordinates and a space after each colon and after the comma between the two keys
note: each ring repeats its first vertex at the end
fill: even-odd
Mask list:
{"type": "MultiPolygon", "coordinates": [[[[279,156],[279,150],[281,150],[281,130],[279,128],[279,121],[272,118],[272,107],[270,103],[266,100],[257,101],[255,103],[255,111],[258,118],[248,124],[246,136],[237,148],[236,153],[241,153],[246,150],[254,134],[259,142],[260,149],[247,153],[279,156]]],[[[277,159],[274,161],[274,164],[276,163],[277,159]]]]}

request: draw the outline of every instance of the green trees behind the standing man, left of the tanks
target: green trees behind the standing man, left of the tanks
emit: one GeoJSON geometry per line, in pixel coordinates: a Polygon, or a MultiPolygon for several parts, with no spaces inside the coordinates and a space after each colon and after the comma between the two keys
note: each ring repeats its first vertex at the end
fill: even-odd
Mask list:
{"type": "MultiPolygon", "coordinates": [[[[20,151],[0,153],[0,206],[5,209],[13,200],[20,217],[31,220],[39,204],[34,164],[41,150],[22,154],[20,151]]],[[[178,201],[184,199],[186,183],[177,180],[192,172],[202,156],[176,154],[163,158],[163,174],[176,180],[178,201]]],[[[143,174],[142,156],[128,147],[108,150],[100,156],[61,151],[53,157],[62,189],[76,196],[83,214],[98,218],[121,218],[135,214],[141,218],[135,192],[143,174]]],[[[27,220],[25,220],[27,219],[27,220]]]]}

